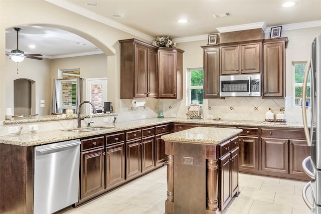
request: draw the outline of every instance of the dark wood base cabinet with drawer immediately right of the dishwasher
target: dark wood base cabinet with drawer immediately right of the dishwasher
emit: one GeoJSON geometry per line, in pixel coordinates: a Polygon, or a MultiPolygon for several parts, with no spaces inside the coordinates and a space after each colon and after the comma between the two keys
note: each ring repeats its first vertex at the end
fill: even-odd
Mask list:
{"type": "Polygon", "coordinates": [[[105,189],[104,137],[81,140],[80,200],[105,189]]]}

